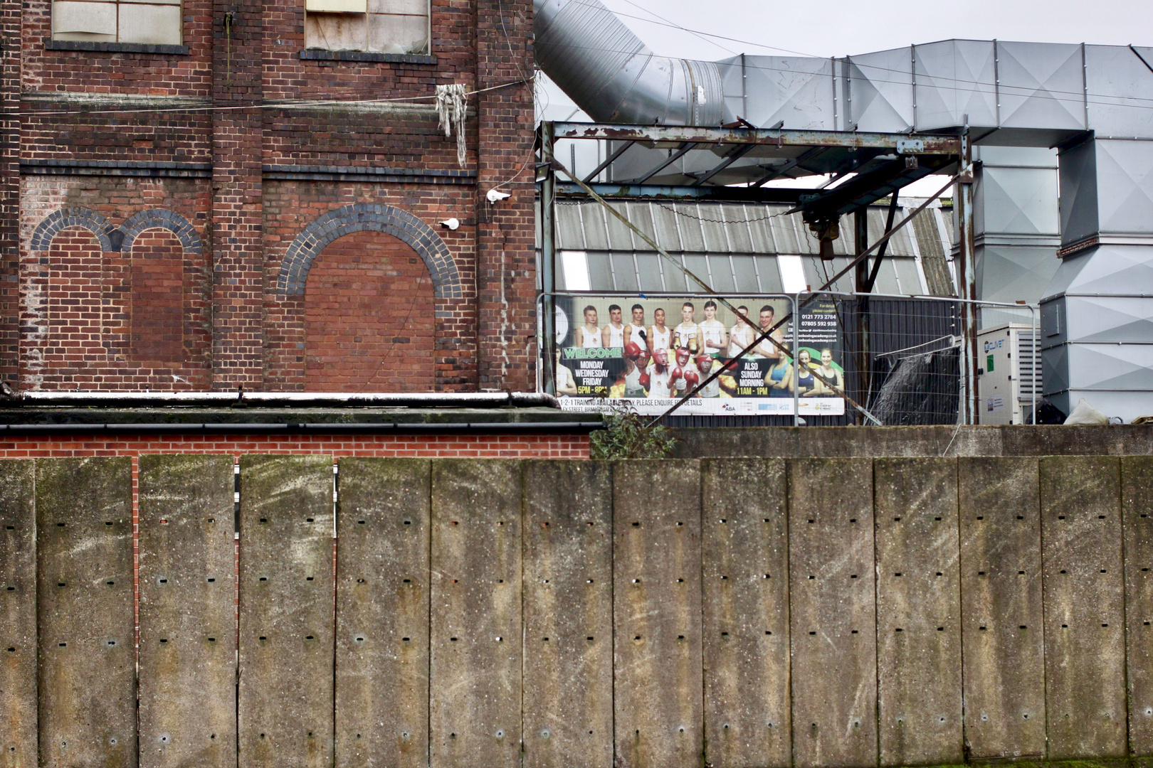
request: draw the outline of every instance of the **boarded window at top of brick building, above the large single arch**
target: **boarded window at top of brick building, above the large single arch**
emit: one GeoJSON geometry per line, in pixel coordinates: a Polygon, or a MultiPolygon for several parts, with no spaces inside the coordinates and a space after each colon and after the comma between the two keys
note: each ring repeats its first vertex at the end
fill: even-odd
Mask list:
{"type": "Polygon", "coordinates": [[[306,0],[304,47],[429,53],[429,0],[306,0]]]}

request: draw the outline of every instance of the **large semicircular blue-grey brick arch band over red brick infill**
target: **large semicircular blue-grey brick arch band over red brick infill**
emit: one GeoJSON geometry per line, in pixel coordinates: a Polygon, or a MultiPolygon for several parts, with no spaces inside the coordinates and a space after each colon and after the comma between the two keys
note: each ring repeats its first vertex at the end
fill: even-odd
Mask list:
{"type": "Polygon", "coordinates": [[[338,237],[366,230],[392,235],[408,243],[432,275],[432,295],[436,298],[464,298],[457,263],[440,236],[407,211],[372,203],[329,211],[304,227],[285,253],[277,276],[277,292],[281,296],[303,295],[308,271],[324,246],[338,237]]]}

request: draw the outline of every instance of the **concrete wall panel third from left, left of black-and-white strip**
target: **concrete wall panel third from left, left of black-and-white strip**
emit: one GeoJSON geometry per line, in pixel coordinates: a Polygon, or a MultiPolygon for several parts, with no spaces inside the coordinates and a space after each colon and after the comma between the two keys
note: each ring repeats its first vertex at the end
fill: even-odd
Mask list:
{"type": "Polygon", "coordinates": [[[140,458],[141,766],[236,766],[231,456],[140,458]]]}

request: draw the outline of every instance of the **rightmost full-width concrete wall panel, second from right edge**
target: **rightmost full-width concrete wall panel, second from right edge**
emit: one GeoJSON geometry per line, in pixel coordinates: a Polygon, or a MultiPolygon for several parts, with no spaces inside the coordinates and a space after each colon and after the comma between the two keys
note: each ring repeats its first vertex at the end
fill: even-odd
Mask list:
{"type": "Polygon", "coordinates": [[[1048,758],[1126,752],[1121,462],[1040,459],[1048,758]]]}

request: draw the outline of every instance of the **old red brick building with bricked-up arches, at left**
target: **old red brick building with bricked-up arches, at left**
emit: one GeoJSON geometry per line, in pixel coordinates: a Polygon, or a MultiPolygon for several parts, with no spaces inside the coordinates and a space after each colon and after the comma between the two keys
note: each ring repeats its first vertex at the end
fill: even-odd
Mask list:
{"type": "Polygon", "coordinates": [[[535,387],[529,0],[0,0],[0,25],[5,381],[535,387]]]}

